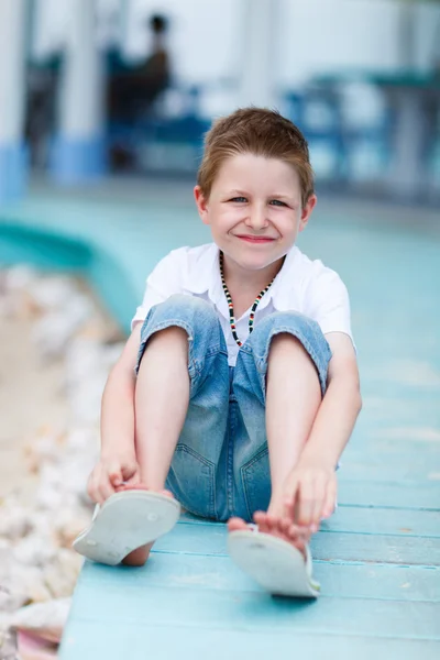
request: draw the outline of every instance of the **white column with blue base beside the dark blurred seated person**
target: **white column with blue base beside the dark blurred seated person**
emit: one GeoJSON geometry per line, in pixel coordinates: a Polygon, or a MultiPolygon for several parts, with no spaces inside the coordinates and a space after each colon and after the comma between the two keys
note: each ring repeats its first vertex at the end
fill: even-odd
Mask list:
{"type": "Polygon", "coordinates": [[[58,182],[75,184],[100,177],[106,170],[105,81],[94,0],[68,0],[66,11],[52,172],[58,182]]]}

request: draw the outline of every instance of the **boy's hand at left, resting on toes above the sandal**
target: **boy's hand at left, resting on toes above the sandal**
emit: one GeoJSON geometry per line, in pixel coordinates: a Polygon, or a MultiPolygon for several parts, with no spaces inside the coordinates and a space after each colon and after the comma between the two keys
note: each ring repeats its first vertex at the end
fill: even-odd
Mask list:
{"type": "Polygon", "coordinates": [[[141,471],[135,455],[130,453],[101,457],[87,484],[87,493],[98,504],[117,492],[119,486],[141,483],[141,471]]]}

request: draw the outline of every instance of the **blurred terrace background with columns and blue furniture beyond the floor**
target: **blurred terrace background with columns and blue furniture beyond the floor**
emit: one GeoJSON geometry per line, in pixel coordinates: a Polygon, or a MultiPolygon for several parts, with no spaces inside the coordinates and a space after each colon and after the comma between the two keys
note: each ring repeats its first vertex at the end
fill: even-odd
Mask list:
{"type": "Polygon", "coordinates": [[[212,118],[249,103],[300,125],[321,186],[439,200],[436,0],[8,6],[0,200],[24,167],[15,153],[12,172],[4,150],[23,142],[32,172],[61,184],[109,173],[194,177],[212,118]]]}

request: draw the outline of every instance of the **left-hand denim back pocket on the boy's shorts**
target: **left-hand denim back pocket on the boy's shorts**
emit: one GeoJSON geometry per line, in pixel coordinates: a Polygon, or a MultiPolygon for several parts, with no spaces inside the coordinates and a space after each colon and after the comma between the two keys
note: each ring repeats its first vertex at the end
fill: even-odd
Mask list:
{"type": "Polygon", "coordinates": [[[187,444],[177,444],[166,486],[189,513],[216,518],[215,464],[187,444]]]}

